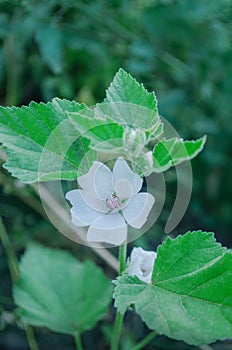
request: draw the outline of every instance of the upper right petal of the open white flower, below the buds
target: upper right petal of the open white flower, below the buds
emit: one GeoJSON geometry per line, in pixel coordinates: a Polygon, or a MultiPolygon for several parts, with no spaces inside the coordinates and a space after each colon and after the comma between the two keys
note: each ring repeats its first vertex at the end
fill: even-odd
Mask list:
{"type": "Polygon", "coordinates": [[[142,178],[130,169],[129,165],[123,158],[119,157],[116,160],[113,168],[113,174],[115,184],[119,180],[127,180],[130,182],[134,194],[141,190],[143,183],[142,178]]]}

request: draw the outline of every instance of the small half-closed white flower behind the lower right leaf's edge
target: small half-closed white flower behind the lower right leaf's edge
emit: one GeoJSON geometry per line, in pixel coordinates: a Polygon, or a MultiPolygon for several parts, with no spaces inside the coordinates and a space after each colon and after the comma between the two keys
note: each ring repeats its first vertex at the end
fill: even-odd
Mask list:
{"type": "Polygon", "coordinates": [[[128,275],[137,276],[140,280],[151,283],[155,259],[155,252],[133,248],[128,266],[128,275]]]}

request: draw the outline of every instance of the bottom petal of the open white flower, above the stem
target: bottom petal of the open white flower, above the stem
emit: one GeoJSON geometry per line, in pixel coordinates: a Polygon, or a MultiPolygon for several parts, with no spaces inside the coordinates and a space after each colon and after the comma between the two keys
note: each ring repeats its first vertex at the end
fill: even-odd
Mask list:
{"type": "Polygon", "coordinates": [[[122,244],[127,237],[127,225],[119,213],[102,215],[89,227],[87,241],[122,244]]]}

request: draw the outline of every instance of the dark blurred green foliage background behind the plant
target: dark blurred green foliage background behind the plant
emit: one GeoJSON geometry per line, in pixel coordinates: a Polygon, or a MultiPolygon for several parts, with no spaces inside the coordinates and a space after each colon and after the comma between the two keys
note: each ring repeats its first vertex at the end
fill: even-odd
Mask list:
{"type": "MultiPolygon", "coordinates": [[[[220,242],[231,247],[231,19],[231,0],[2,0],[0,103],[21,106],[57,96],[92,105],[104,98],[114,74],[123,67],[156,92],[160,114],[182,137],[208,135],[205,150],[192,161],[191,202],[173,235],[201,228],[214,231],[220,242]]],[[[152,249],[163,239],[176,193],[175,171],[169,171],[166,180],[165,209],[155,232],[140,240],[145,248],[152,249]]],[[[3,169],[0,215],[18,255],[28,241],[37,240],[71,249],[79,258],[87,254],[105,267],[90,250],[73,246],[57,233],[43,216],[33,190],[3,169]]],[[[24,332],[6,319],[13,305],[2,247],[0,273],[0,349],[27,349],[24,332]]],[[[136,322],[128,324],[141,328],[136,322]]],[[[87,349],[94,348],[91,344],[99,334],[107,337],[107,332],[100,325],[91,333],[92,343],[87,334],[87,349]]],[[[42,350],[74,348],[69,337],[47,330],[37,330],[36,335],[42,350]]],[[[129,349],[129,336],[124,343],[123,349],[129,349]]],[[[104,341],[99,344],[104,349],[104,341]]],[[[147,349],[193,348],[181,346],[160,337],[147,349]]],[[[214,348],[232,349],[232,345],[214,348]]]]}

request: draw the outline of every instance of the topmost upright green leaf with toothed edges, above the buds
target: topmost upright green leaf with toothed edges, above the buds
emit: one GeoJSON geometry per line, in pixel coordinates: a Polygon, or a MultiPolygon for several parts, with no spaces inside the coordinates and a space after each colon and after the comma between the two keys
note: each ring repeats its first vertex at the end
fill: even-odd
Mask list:
{"type": "Polygon", "coordinates": [[[148,92],[123,69],[116,73],[104,103],[98,104],[95,111],[100,117],[109,116],[132,128],[149,130],[160,123],[154,92],[148,92]]]}

